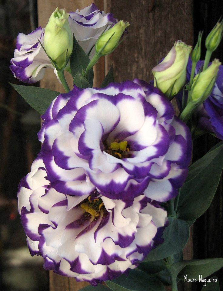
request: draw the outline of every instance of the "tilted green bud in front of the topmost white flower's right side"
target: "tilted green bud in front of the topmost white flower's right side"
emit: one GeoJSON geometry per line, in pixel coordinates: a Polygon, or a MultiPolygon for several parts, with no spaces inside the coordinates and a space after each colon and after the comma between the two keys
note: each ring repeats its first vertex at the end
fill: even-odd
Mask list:
{"type": "Polygon", "coordinates": [[[128,22],[123,20],[116,23],[112,28],[108,29],[98,38],[95,44],[95,51],[101,56],[111,54],[119,44],[119,40],[129,26],[128,22]]]}

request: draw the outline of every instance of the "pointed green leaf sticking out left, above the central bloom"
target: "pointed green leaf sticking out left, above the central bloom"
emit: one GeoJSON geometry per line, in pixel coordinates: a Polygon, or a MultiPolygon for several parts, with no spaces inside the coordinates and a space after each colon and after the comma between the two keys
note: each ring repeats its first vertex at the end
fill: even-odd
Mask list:
{"type": "Polygon", "coordinates": [[[43,114],[54,98],[61,94],[57,91],[39,87],[10,84],[40,114],[43,114]]]}

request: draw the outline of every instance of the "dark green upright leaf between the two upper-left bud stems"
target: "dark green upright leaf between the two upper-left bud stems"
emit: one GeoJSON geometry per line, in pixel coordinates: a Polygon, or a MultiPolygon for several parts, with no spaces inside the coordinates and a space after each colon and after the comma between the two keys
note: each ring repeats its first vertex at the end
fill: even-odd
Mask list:
{"type": "MultiPolygon", "coordinates": [[[[78,44],[74,35],[73,35],[73,48],[74,49],[73,49],[73,52],[72,52],[71,58],[70,58],[70,67],[71,67],[72,77],[75,78],[75,76],[78,72],[82,74],[83,69],[86,70],[88,64],[90,63],[90,59],[87,56],[87,54],[85,54],[82,47],[78,44]]],[[[89,74],[89,80],[88,80],[88,82],[90,83],[91,86],[89,86],[89,87],[92,87],[93,78],[94,78],[94,73],[93,73],[93,70],[91,70],[91,72],[89,74]]],[[[80,87],[80,88],[82,88],[82,87],[80,87]]]]}

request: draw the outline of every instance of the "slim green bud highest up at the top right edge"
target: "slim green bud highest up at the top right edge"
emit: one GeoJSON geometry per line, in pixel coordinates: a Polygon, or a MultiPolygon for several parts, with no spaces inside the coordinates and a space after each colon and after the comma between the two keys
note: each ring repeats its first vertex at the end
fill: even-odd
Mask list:
{"type": "Polygon", "coordinates": [[[223,20],[217,22],[205,40],[205,46],[208,51],[215,51],[223,35],[223,20]]]}

